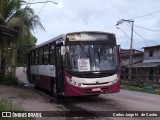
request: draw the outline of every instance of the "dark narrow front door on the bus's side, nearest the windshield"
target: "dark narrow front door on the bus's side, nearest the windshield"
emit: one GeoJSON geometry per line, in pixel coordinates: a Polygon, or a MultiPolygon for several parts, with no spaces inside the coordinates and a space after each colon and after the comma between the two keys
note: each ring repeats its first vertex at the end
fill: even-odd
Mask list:
{"type": "Polygon", "coordinates": [[[57,95],[63,95],[64,92],[63,60],[60,46],[56,47],[56,92],[57,95]]]}

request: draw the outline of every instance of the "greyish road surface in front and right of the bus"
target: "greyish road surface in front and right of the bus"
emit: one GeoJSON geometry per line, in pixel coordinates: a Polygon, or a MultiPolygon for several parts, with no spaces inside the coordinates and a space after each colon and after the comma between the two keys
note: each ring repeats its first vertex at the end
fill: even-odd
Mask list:
{"type": "MultiPolygon", "coordinates": [[[[19,70],[21,71],[21,70],[19,70]]],[[[21,74],[21,73],[20,73],[21,74]]],[[[22,77],[22,75],[19,75],[22,77]]],[[[24,75],[25,76],[25,75],[24,75]]],[[[22,77],[24,80],[24,77],[22,77]]],[[[42,96],[39,96],[42,97],[42,96]]],[[[30,100],[30,102],[32,99],[30,100]]],[[[42,104],[39,102],[39,104],[42,104]]],[[[44,104],[44,103],[43,103],[44,104]]],[[[98,97],[68,97],[61,102],[62,106],[71,111],[80,110],[92,113],[94,111],[160,111],[160,96],[148,93],[133,92],[121,90],[120,93],[100,95],[98,97]]],[[[46,105],[50,109],[52,104],[46,105]]],[[[41,105],[40,105],[41,106],[41,105]]],[[[37,107],[40,107],[37,106],[37,107]]],[[[45,109],[41,106],[41,110],[45,109]]],[[[28,107],[30,108],[30,107],[28,107]]],[[[37,109],[37,108],[35,108],[37,109]]],[[[74,118],[79,119],[79,118],[74,118]]],[[[81,118],[82,119],[82,118],[81,118]]],[[[84,119],[84,118],[83,118],[84,119]]],[[[159,120],[157,117],[92,117],[88,119],[102,119],[102,120],[159,120]]]]}

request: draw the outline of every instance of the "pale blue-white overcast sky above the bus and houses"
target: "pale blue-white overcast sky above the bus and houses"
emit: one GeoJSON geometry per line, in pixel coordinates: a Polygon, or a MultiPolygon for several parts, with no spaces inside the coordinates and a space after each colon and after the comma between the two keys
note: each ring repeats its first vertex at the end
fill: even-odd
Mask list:
{"type": "MultiPolygon", "coordinates": [[[[160,11],[160,0],[61,0],[61,2],[63,4],[61,8],[53,3],[47,3],[45,6],[31,5],[46,30],[43,32],[37,29],[34,32],[38,39],[37,44],[63,33],[91,30],[115,33],[117,43],[122,48],[130,48],[129,23],[128,25],[122,23],[118,26],[120,29],[115,26],[121,19],[133,19],[136,26],[160,30],[160,12],[157,12],[160,11]],[[157,13],[134,19],[154,12],[157,13]]],[[[147,45],[160,44],[160,31],[149,31],[136,26],[134,26],[136,33],[133,35],[133,48],[143,50],[141,48],[147,45]]]]}

